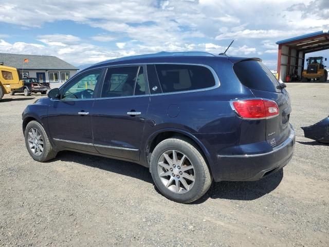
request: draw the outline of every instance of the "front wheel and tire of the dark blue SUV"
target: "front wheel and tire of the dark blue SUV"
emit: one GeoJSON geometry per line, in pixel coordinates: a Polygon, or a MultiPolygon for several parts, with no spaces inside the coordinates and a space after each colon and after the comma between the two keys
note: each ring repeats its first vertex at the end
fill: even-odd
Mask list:
{"type": "Polygon", "coordinates": [[[29,152],[33,160],[45,162],[56,157],[57,151],[49,142],[47,133],[39,122],[30,121],[25,128],[24,136],[27,151],[29,152]],[[38,138],[38,136],[40,135],[41,138],[38,138]],[[33,139],[33,137],[37,138],[33,139]],[[35,142],[38,142],[37,145],[39,146],[39,148],[35,148],[35,142]],[[40,146],[42,146],[43,150],[41,150],[40,146]]]}

